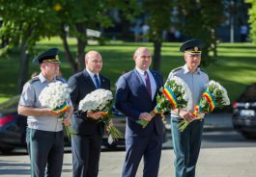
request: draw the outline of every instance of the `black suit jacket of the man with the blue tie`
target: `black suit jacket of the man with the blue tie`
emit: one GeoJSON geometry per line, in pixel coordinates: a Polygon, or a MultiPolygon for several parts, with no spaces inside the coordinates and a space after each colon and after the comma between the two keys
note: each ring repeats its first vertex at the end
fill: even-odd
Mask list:
{"type": "MultiPolygon", "coordinates": [[[[87,117],[86,113],[78,111],[80,100],[96,89],[89,73],[84,69],[83,71],[74,74],[69,79],[68,84],[71,88],[71,102],[74,114],[71,118],[72,129],[78,135],[82,136],[102,136],[104,132],[104,123],[98,123],[97,120],[87,117]]],[[[102,75],[100,75],[100,89],[110,89],[110,81],[102,75]]]]}

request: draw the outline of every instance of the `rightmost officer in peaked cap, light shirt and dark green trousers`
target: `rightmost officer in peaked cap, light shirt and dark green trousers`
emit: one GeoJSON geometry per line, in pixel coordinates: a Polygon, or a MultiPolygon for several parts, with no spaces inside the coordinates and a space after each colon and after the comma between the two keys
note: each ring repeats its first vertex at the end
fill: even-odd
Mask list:
{"type": "MultiPolygon", "coordinates": [[[[171,113],[172,138],[175,159],[176,177],[194,177],[197,163],[204,119],[194,120],[193,108],[198,105],[201,95],[209,82],[207,73],[199,68],[201,62],[202,42],[198,39],[185,41],[180,47],[185,52],[185,65],[172,70],[168,79],[174,76],[182,78],[192,93],[192,108],[187,110],[174,110],[171,113]],[[183,119],[189,121],[184,132],[179,130],[179,122],[183,119]],[[193,121],[194,120],[194,121],[193,121]]],[[[201,114],[203,117],[203,114],[201,114]]]]}

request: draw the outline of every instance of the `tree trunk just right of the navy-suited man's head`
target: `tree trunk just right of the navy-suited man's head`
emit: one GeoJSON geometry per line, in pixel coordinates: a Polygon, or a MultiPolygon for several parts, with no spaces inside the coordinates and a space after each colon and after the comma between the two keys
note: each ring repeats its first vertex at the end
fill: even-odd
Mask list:
{"type": "Polygon", "coordinates": [[[161,59],[161,41],[154,41],[154,60],[153,69],[160,72],[160,59],[161,59]]]}

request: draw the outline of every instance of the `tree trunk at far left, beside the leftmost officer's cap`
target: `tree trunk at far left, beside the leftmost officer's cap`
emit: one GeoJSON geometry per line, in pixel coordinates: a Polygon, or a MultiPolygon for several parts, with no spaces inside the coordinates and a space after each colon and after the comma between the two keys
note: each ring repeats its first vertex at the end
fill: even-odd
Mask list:
{"type": "Polygon", "coordinates": [[[27,41],[28,38],[22,38],[20,43],[20,63],[19,63],[19,71],[18,71],[18,80],[17,80],[17,93],[20,94],[22,92],[23,86],[27,81],[28,76],[28,68],[29,68],[29,59],[27,54],[27,41]]]}

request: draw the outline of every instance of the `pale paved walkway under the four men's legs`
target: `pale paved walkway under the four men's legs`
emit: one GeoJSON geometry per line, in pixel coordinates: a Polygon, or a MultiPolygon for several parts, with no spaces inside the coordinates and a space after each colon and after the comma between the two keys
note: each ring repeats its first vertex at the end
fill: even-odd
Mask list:
{"type": "MultiPolygon", "coordinates": [[[[99,177],[120,177],[125,152],[102,152],[99,177]]],[[[174,177],[173,150],[162,150],[159,177],[174,177]]],[[[27,177],[30,174],[27,155],[1,156],[1,177],[27,177]]],[[[255,177],[256,147],[203,148],[197,164],[197,177],[255,177]]],[[[71,153],[65,154],[63,177],[71,177],[71,153]]],[[[141,163],[137,177],[142,176],[141,163]]]]}

